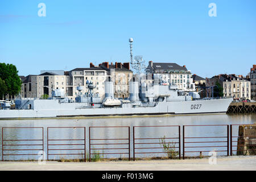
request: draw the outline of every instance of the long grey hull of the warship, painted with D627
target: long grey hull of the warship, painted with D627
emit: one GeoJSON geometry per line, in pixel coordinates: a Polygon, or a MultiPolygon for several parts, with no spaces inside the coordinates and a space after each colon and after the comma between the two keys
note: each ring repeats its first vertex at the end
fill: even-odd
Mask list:
{"type": "MultiPolygon", "coordinates": [[[[205,114],[225,113],[233,98],[220,100],[174,101],[158,102],[154,107],[130,107],[124,104],[122,107],[79,109],[80,103],[63,103],[51,101],[47,109],[38,107],[24,110],[0,110],[0,119],[15,118],[55,118],[77,116],[104,116],[104,115],[143,115],[143,114],[205,114]],[[53,109],[54,108],[54,109],[53,109]]],[[[42,102],[42,101],[40,101],[42,102]]],[[[49,102],[49,101],[47,101],[49,102]]],[[[49,104],[49,103],[47,103],[49,104]]]]}

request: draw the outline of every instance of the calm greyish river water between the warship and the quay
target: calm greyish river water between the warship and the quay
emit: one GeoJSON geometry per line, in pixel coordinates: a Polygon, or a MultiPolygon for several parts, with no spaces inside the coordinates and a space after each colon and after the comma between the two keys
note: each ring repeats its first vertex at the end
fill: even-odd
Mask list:
{"type": "MultiPolygon", "coordinates": [[[[133,157],[133,126],[180,126],[181,136],[181,154],[182,154],[182,136],[183,125],[238,125],[238,124],[253,124],[256,123],[256,114],[241,114],[241,115],[228,115],[228,114],[205,114],[205,115],[174,115],[174,116],[144,116],[144,117],[112,117],[112,118],[65,118],[65,119],[15,119],[15,120],[0,120],[0,127],[3,127],[3,141],[1,138],[1,159],[2,159],[2,144],[4,145],[3,154],[34,154],[34,155],[4,155],[5,160],[27,160],[38,159],[38,152],[42,146],[29,146],[24,144],[42,144],[40,139],[43,138],[44,151],[47,156],[47,149],[51,149],[48,154],[49,159],[60,158],[80,158],[82,157],[83,150],[86,147],[86,153],[89,151],[89,127],[91,139],[91,151],[100,153],[127,153],[131,152],[130,156],[133,157]],[[108,127],[107,127],[108,126],[108,127]],[[129,126],[130,127],[130,150],[129,150],[129,128],[128,127],[109,127],[109,126],[129,126]],[[5,127],[43,127],[36,129],[15,129],[5,127]],[[73,127],[73,128],[49,128],[47,127],[73,127]],[[82,128],[85,127],[86,129],[82,128]],[[84,133],[85,131],[85,133],[84,133]],[[47,147],[47,133],[48,144],[47,147]],[[43,137],[44,135],[44,137],[43,137]],[[85,145],[84,139],[85,137],[85,145]],[[36,139],[36,140],[28,140],[36,139]],[[52,140],[51,140],[52,139],[52,140]],[[60,140],[54,140],[60,139],[60,140]],[[64,139],[64,140],[63,140],[64,139]],[[73,140],[66,140],[73,139],[73,140]],[[79,140],[74,140],[79,139],[79,140]],[[118,140],[102,140],[102,139],[118,139],[118,140]],[[106,145],[108,143],[108,145],[106,145]],[[115,143],[115,144],[110,144],[115,143]],[[120,144],[116,144],[120,143],[120,144]],[[13,146],[5,146],[5,144],[13,144],[13,146]],[[19,145],[20,144],[20,145],[19,145]],[[62,145],[54,145],[62,144],[62,145]],[[66,144],[75,144],[72,146],[66,144]],[[92,145],[94,144],[94,145],[92,145]],[[100,149],[97,149],[100,148],[100,149]],[[121,149],[108,149],[108,148],[121,148],[121,149]],[[125,148],[125,149],[122,149],[125,148]],[[19,150],[16,150],[19,149],[19,150]],[[24,150],[23,149],[27,149],[24,150]],[[34,150],[30,150],[34,149],[34,150]],[[62,150],[56,150],[62,149],[62,150]],[[72,150],[65,150],[72,149],[72,150]],[[63,154],[63,155],[53,155],[63,154]],[[77,155],[68,155],[77,154],[77,155]],[[79,155],[80,154],[80,155],[79,155]]],[[[135,144],[136,153],[143,152],[163,152],[162,144],[159,138],[166,137],[166,142],[171,143],[172,147],[178,147],[179,137],[178,127],[135,127],[135,143],[155,143],[155,144],[135,144]],[[141,138],[156,138],[156,139],[141,139],[141,138]],[[167,139],[171,138],[171,139],[167,139]],[[154,148],[151,148],[154,147],[154,148]]],[[[233,136],[238,135],[238,126],[233,127],[233,136]]],[[[225,137],[227,135],[226,126],[186,126],[185,137],[225,137]]],[[[2,136],[2,130],[1,130],[2,136]]],[[[208,151],[216,150],[217,155],[226,155],[227,143],[224,142],[226,138],[187,138],[185,142],[207,142],[207,141],[222,141],[222,143],[186,143],[186,151],[208,151]],[[206,146],[213,147],[206,147],[206,146]],[[205,146],[205,148],[196,148],[195,146],[205,146]],[[214,147],[216,146],[216,147],[214,147]],[[223,147],[221,147],[223,146],[223,147]],[[223,151],[223,152],[221,152],[223,151]]],[[[233,139],[234,141],[236,139],[233,139]]],[[[236,143],[233,143],[236,145],[236,143]]],[[[178,148],[175,148],[177,151],[178,148]]],[[[233,147],[236,150],[236,147],[233,147]]],[[[163,153],[152,154],[136,154],[136,157],[149,157],[149,156],[165,156],[163,153]]],[[[186,156],[199,155],[199,152],[186,152],[186,156]]],[[[128,154],[104,154],[104,158],[119,158],[128,157],[128,154]]]]}

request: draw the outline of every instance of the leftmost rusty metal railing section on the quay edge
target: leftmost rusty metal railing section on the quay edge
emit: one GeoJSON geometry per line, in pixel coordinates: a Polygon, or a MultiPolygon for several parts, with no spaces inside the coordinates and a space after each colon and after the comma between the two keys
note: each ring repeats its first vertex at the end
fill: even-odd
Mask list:
{"type": "MultiPolygon", "coordinates": [[[[27,131],[28,132],[28,131],[27,131]]],[[[30,156],[30,155],[39,155],[38,152],[39,151],[43,151],[44,150],[44,129],[43,127],[2,127],[2,161],[4,160],[4,156],[22,156],[22,155],[26,155],[26,156],[30,156]],[[42,133],[40,135],[42,135],[42,139],[11,139],[13,138],[13,136],[6,136],[4,134],[5,130],[10,130],[10,129],[26,129],[26,130],[30,130],[30,129],[42,129],[42,133]],[[24,143],[26,142],[26,143],[24,143]],[[29,142],[29,143],[27,143],[29,142]],[[15,147],[15,148],[14,148],[15,147]],[[20,148],[22,147],[22,148],[20,148]],[[26,148],[23,148],[26,147],[26,148]],[[31,147],[31,148],[30,148],[31,147]],[[37,148],[37,147],[42,147],[42,148],[37,148]],[[6,152],[9,153],[6,153],[6,152]],[[31,151],[31,153],[34,151],[38,151],[36,154],[28,154],[25,151],[31,151]],[[10,153],[12,152],[12,153],[10,153]],[[15,154],[16,152],[16,154],[15,154]],[[27,154],[20,154],[20,152],[25,152],[27,154]]],[[[41,154],[40,154],[41,155],[41,154]]],[[[43,154],[42,154],[43,155],[43,154]]]]}

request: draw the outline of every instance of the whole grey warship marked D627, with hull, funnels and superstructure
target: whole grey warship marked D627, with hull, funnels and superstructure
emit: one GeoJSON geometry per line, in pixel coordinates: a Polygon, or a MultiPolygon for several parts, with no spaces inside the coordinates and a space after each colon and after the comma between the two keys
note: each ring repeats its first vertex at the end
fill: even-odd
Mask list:
{"type": "Polygon", "coordinates": [[[113,81],[106,80],[105,98],[93,92],[93,82],[87,80],[88,92],[79,94],[75,100],[65,97],[63,89],[53,89],[52,97],[43,99],[15,100],[15,109],[3,103],[0,119],[14,118],[58,118],[58,117],[101,117],[112,115],[160,115],[160,114],[206,114],[226,113],[233,98],[200,98],[197,92],[183,93],[166,81],[151,85],[141,81],[130,81],[130,96],[126,99],[114,97],[113,81]]]}

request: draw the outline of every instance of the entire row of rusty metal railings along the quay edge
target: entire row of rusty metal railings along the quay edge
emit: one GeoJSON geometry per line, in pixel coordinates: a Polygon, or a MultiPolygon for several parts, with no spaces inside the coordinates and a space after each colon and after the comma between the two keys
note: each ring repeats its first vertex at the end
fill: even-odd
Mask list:
{"type": "MultiPolygon", "coordinates": [[[[256,151],[256,136],[246,135],[242,136],[238,134],[238,129],[234,132],[234,127],[239,126],[251,126],[251,124],[238,124],[238,125],[183,125],[183,136],[181,137],[181,126],[133,126],[133,131],[130,133],[130,126],[92,126],[89,127],[89,158],[92,161],[93,155],[123,155],[122,158],[130,160],[130,154],[133,152],[133,160],[141,155],[154,154],[159,156],[168,155],[168,152],[175,152],[176,155],[173,158],[181,155],[183,159],[186,158],[185,154],[193,153],[203,156],[203,152],[222,152],[220,155],[234,155],[233,152],[243,151],[256,151]],[[210,127],[210,128],[209,128],[210,127]],[[210,132],[201,134],[198,131],[205,129],[212,129],[210,132]],[[104,129],[104,133],[100,132],[100,129],[104,129]],[[143,133],[139,132],[139,129],[143,129],[143,133]],[[147,129],[152,133],[148,133],[147,129]],[[155,129],[161,129],[159,134],[166,132],[164,137],[159,137],[155,134],[155,129]],[[190,132],[190,130],[192,132],[190,132]],[[97,131],[94,133],[94,131],[97,131]],[[121,137],[108,137],[108,134],[112,135],[112,131],[121,133],[121,137]],[[222,133],[221,135],[218,133],[222,133]],[[132,134],[133,146],[130,143],[130,134],[132,134]],[[139,134],[139,135],[138,135],[139,134]],[[187,135],[186,135],[187,134],[187,135]],[[103,136],[103,137],[102,137],[103,136]],[[126,137],[125,137],[126,136],[126,137]],[[137,137],[138,136],[138,137],[137,137]],[[247,138],[250,139],[248,143],[247,138]],[[162,140],[164,139],[164,140],[162,140]],[[238,141],[242,139],[243,143],[238,141]],[[182,142],[181,142],[182,140],[182,142]],[[182,143],[182,144],[181,144],[182,143]],[[237,143],[237,144],[234,144],[237,143]],[[167,148],[171,151],[164,150],[163,144],[170,144],[167,148]],[[156,146],[158,145],[158,146],[156,146]],[[159,146],[160,145],[160,146],[159,146]],[[94,148],[96,147],[96,148],[94,148]],[[131,147],[133,147],[131,149],[131,147]],[[237,148],[235,148],[237,147],[237,148]],[[243,148],[247,147],[247,148],[243,148]],[[250,148],[254,147],[254,148],[250,148]],[[182,148],[182,149],[181,149],[182,148]],[[209,148],[209,149],[208,149],[209,148]],[[216,148],[218,150],[216,150],[216,148]],[[248,149],[249,148],[249,149],[248,149]],[[102,150],[102,152],[100,151],[102,150]],[[98,152],[97,152],[98,151],[98,152]]],[[[253,125],[254,127],[254,125],[253,125]]],[[[1,130],[1,129],[0,129],[1,130]]],[[[70,134],[69,134],[70,135],[70,134]]],[[[68,136],[69,136],[68,135],[68,136]]],[[[67,136],[64,134],[64,136],[67,136]]],[[[80,159],[86,161],[86,128],[85,127],[47,127],[47,160],[51,160],[51,156],[61,155],[79,155],[80,159]],[[60,132],[64,133],[65,129],[78,129],[72,130],[75,137],[61,138],[60,132]],[[81,133],[80,133],[81,131],[81,133]],[[81,152],[81,153],[79,153],[81,152]]],[[[24,159],[24,156],[42,155],[36,151],[44,151],[44,129],[43,127],[2,127],[2,160],[10,160],[6,156],[20,156],[24,159]],[[19,135],[10,135],[10,130],[13,129],[18,134],[30,133],[23,135],[25,138],[19,138],[19,135]],[[17,131],[16,131],[17,130],[17,131]],[[8,132],[7,132],[8,131],[8,132]],[[41,137],[42,136],[42,137],[41,137]],[[26,148],[25,148],[26,147],[26,148]],[[27,152],[25,152],[27,151],[27,152]],[[32,152],[28,152],[32,151],[32,152]],[[36,152],[36,153],[35,153],[36,152]]],[[[206,156],[206,155],[205,155],[206,156]]],[[[168,156],[169,157],[169,156],[168,156]]],[[[43,156],[44,158],[44,156],[43,156]]],[[[103,158],[103,157],[102,157],[103,158]]],[[[120,156],[121,158],[121,156],[120,156]]],[[[14,160],[14,159],[13,159],[14,160]]],[[[25,159],[26,160],[26,159],[25,159]]]]}

